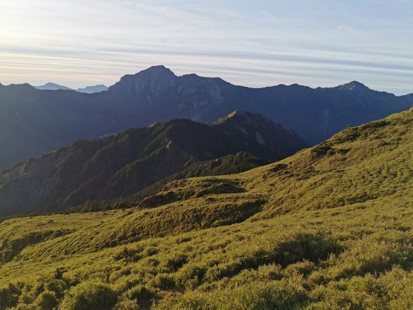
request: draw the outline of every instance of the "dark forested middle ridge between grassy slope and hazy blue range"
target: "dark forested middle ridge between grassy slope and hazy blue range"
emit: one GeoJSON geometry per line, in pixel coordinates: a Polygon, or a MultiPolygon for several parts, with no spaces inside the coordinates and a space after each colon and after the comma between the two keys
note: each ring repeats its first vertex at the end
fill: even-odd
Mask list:
{"type": "Polygon", "coordinates": [[[129,196],[195,164],[241,151],[276,161],[303,147],[304,141],[286,127],[244,111],[208,125],[187,119],[157,123],[78,141],[4,170],[0,216],[129,196]]]}

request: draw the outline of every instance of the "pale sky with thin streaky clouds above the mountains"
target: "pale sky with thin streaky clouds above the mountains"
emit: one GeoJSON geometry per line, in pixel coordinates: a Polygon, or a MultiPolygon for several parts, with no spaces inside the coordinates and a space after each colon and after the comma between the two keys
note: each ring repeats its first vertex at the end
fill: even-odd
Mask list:
{"type": "Polygon", "coordinates": [[[2,84],[112,85],[151,65],[412,93],[413,1],[0,0],[2,84]]]}

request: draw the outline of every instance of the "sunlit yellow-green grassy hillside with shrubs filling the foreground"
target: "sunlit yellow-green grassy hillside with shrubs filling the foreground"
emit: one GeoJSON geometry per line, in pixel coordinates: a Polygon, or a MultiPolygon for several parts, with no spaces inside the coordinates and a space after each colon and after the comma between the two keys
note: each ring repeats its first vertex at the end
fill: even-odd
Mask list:
{"type": "Polygon", "coordinates": [[[410,110],[140,207],[6,220],[0,307],[412,308],[412,151],[410,110]]]}

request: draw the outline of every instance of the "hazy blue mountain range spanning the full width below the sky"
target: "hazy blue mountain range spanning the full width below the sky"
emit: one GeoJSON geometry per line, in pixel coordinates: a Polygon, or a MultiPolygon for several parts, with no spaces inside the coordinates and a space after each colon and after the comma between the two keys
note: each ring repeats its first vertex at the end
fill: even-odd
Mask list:
{"type": "Polygon", "coordinates": [[[413,96],[358,82],[330,88],[248,88],[156,66],[123,76],[106,92],[0,85],[0,168],[82,138],[97,138],[172,118],[211,122],[233,110],[263,114],[314,145],[343,130],[409,109],[413,96]]]}

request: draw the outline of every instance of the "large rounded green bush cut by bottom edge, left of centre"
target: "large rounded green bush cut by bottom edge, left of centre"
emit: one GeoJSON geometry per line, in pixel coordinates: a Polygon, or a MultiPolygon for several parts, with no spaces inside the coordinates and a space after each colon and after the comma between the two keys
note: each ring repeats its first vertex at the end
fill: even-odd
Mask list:
{"type": "Polygon", "coordinates": [[[109,286],[92,281],[82,282],[70,289],[61,309],[109,310],[114,307],[116,301],[116,293],[109,286]]]}

